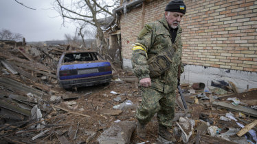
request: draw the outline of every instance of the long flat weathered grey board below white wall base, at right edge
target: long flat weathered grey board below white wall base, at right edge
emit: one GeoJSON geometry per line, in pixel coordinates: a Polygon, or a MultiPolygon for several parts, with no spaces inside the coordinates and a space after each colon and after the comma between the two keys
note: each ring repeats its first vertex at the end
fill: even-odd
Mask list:
{"type": "Polygon", "coordinates": [[[254,109],[250,109],[246,106],[237,105],[234,106],[233,104],[227,103],[227,102],[212,102],[215,106],[221,106],[224,109],[229,109],[236,112],[245,113],[246,115],[251,115],[253,117],[257,117],[257,111],[254,109]]]}

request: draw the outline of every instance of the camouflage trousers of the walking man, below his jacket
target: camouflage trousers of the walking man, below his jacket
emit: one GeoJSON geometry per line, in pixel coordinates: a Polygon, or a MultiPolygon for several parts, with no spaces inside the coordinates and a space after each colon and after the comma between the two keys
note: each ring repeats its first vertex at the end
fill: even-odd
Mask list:
{"type": "Polygon", "coordinates": [[[175,115],[175,91],[162,93],[150,87],[142,87],[142,102],[136,117],[140,124],[147,124],[157,113],[160,125],[171,127],[175,115]]]}

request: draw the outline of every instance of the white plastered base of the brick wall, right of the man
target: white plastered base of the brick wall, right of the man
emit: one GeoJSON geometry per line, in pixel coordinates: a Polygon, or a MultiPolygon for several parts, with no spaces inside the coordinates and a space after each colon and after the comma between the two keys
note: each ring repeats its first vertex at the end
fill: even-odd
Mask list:
{"type": "Polygon", "coordinates": [[[238,91],[243,92],[247,88],[257,88],[257,72],[186,65],[181,74],[181,83],[201,82],[210,86],[212,81],[232,81],[238,91]]]}

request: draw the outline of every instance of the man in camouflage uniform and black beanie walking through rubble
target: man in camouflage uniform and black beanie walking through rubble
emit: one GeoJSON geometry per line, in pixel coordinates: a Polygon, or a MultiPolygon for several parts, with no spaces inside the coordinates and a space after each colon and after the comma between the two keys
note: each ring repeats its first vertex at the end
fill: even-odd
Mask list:
{"type": "Polygon", "coordinates": [[[163,18],[146,24],[133,47],[132,66],[142,88],[142,102],[136,113],[137,135],[143,139],[146,124],[157,113],[159,136],[175,140],[168,128],[175,115],[175,89],[183,72],[179,23],[184,14],[183,1],[170,1],[163,18]]]}

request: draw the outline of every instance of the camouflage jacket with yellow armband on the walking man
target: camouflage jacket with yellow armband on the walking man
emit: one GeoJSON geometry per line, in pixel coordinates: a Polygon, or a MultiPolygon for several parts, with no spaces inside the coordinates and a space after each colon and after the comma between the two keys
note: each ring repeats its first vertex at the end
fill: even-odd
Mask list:
{"type": "Polygon", "coordinates": [[[183,64],[181,63],[181,32],[182,29],[179,26],[179,29],[177,29],[177,37],[174,44],[172,44],[172,35],[170,35],[165,16],[161,18],[161,20],[148,23],[144,26],[137,37],[137,43],[135,43],[135,46],[141,46],[142,48],[134,49],[131,58],[134,73],[139,80],[150,77],[149,66],[147,64],[148,59],[154,55],[159,55],[161,52],[165,51],[166,48],[174,48],[175,53],[172,57],[169,70],[161,74],[161,76],[151,78],[151,87],[164,93],[170,93],[177,89],[179,66],[181,66],[181,73],[183,72],[183,64]]]}

